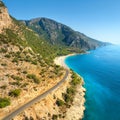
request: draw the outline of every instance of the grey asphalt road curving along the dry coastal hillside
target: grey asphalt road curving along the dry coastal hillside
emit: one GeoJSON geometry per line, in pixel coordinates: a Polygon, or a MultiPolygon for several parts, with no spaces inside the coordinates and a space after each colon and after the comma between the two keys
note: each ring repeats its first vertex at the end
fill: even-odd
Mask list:
{"type": "Polygon", "coordinates": [[[36,98],[34,98],[33,100],[31,100],[30,102],[24,104],[23,106],[21,106],[17,110],[13,111],[12,113],[10,113],[6,117],[4,117],[2,120],[11,120],[12,118],[14,118],[16,115],[18,115],[19,113],[21,113],[26,108],[30,107],[34,103],[36,103],[36,102],[42,100],[43,98],[45,98],[48,94],[50,94],[51,92],[53,92],[56,88],[58,88],[67,79],[68,74],[69,74],[69,70],[66,70],[66,73],[65,73],[65,76],[63,77],[63,79],[59,83],[57,83],[54,87],[50,88],[48,91],[44,92],[43,94],[37,96],[36,98]]]}

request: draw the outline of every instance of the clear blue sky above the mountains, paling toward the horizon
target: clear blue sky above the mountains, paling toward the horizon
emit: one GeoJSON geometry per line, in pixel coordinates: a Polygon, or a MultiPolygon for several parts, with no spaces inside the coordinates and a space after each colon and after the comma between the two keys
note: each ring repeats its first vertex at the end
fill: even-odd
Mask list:
{"type": "Polygon", "coordinates": [[[120,0],[2,0],[18,20],[46,17],[105,42],[120,44],[120,0]]]}

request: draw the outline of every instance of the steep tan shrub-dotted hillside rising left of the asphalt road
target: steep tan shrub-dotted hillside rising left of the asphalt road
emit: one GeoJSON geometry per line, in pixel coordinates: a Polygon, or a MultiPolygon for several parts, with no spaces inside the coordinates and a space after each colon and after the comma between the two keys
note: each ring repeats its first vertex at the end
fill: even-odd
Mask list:
{"type": "Polygon", "coordinates": [[[0,119],[53,87],[64,70],[52,60],[56,48],[10,17],[0,2],[0,119]],[[7,21],[4,21],[7,20],[7,21]],[[7,22],[9,21],[9,25],[7,22]]]}

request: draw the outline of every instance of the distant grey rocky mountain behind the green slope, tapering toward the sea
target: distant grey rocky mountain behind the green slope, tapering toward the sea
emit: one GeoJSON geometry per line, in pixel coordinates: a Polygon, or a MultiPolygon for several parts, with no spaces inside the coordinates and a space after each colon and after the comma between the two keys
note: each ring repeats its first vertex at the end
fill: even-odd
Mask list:
{"type": "Polygon", "coordinates": [[[61,45],[83,50],[90,50],[105,45],[105,43],[92,39],[70,27],[48,18],[22,20],[26,26],[43,36],[52,45],[61,45]]]}

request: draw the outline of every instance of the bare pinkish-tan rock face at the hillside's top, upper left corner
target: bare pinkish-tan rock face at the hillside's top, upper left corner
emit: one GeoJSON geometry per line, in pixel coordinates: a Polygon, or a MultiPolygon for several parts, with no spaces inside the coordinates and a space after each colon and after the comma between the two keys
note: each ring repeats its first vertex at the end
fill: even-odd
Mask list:
{"type": "Polygon", "coordinates": [[[0,33],[2,32],[3,28],[8,28],[12,23],[12,20],[8,14],[8,10],[0,1],[0,33]]]}

